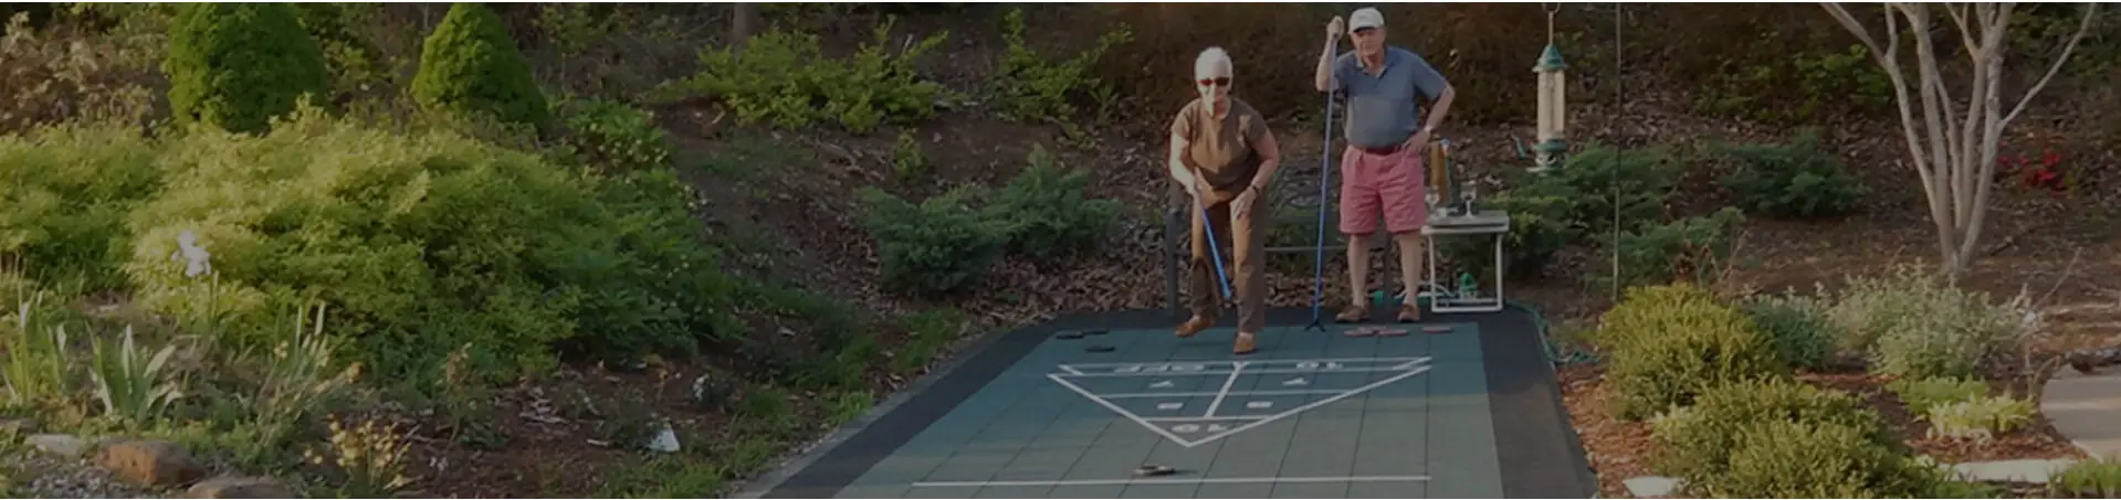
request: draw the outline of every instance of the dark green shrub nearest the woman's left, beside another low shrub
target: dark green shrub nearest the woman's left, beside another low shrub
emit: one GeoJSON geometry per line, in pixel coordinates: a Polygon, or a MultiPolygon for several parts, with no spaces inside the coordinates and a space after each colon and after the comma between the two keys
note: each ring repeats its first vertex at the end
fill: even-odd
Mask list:
{"type": "Polygon", "coordinates": [[[1103,242],[1120,218],[1120,201],[1088,199],[1088,169],[1063,169],[1046,146],[1031,146],[1029,167],[984,208],[1007,229],[1010,250],[1048,258],[1088,250],[1103,242]]]}

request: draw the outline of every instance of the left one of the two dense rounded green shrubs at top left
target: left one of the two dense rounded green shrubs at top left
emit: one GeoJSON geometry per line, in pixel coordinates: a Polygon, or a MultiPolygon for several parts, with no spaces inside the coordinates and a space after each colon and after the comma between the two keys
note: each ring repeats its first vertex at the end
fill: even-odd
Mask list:
{"type": "Polygon", "coordinates": [[[325,53],[288,4],[193,4],[170,28],[170,110],[178,123],[263,131],[303,97],[322,100],[325,53]]]}

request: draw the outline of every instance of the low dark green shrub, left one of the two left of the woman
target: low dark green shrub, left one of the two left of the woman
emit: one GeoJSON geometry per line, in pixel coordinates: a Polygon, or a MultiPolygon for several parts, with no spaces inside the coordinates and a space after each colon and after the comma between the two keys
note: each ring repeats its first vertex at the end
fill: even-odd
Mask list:
{"type": "Polygon", "coordinates": [[[861,225],[876,239],[884,284],[904,292],[952,292],[986,275],[1007,250],[1010,227],[974,212],[976,195],[954,189],[914,206],[863,186],[861,225]]]}

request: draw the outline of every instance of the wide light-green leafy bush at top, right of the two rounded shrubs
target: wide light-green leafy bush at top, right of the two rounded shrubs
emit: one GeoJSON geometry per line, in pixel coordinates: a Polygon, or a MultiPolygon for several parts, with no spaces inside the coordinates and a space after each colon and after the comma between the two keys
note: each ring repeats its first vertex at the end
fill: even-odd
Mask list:
{"type": "Polygon", "coordinates": [[[838,123],[870,133],[882,123],[908,123],[935,114],[950,93],[921,81],[914,59],[933,51],[948,32],[889,53],[891,21],[876,25],[876,40],[851,59],[827,59],[814,34],[768,32],[744,47],[700,53],[700,74],[670,91],[704,95],[730,106],[740,123],[772,121],[776,127],[838,123]]]}

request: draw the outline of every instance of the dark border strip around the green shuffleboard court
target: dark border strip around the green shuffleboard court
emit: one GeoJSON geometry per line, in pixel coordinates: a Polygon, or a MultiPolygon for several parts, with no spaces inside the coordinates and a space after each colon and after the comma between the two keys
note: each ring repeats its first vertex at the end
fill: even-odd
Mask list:
{"type": "MultiPolygon", "coordinates": [[[[1489,413],[1495,422],[1495,453],[1502,466],[1506,498],[1593,498],[1597,479],[1576,428],[1561,405],[1561,388],[1546,358],[1542,322],[1527,309],[1502,314],[1425,314],[1438,322],[1476,322],[1489,386],[1489,413]]],[[[1275,326],[1304,326],[1309,307],[1270,309],[1275,326]]],[[[751,481],[736,498],[831,498],[859,479],[876,462],[991,379],[1016,364],[1058,331],[1171,328],[1171,311],[1080,311],[1050,322],[993,333],[929,375],[842,426],[810,451],[785,462],[778,470],[751,481]]]]}

